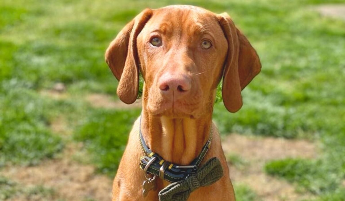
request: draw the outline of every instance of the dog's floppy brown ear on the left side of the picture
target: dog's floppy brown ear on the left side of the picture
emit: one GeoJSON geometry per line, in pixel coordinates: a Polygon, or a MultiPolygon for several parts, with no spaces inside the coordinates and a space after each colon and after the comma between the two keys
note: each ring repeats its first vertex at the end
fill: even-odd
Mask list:
{"type": "Polygon", "coordinates": [[[150,9],[145,9],[138,14],[119,32],[105,53],[111,72],[119,80],[117,96],[127,104],[133,103],[138,96],[140,62],[137,37],[151,16],[150,9]]]}

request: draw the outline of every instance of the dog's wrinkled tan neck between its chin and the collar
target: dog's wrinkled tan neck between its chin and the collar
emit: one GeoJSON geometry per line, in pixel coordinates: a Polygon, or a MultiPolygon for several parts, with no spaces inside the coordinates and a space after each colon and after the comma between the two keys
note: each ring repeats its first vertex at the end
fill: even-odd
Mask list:
{"type": "Polygon", "coordinates": [[[211,114],[198,119],[171,119],[155,117],[144,110],[140,129],[153,152],[172,163],[188,165],[208,140],[211,125],[211,114]]]}

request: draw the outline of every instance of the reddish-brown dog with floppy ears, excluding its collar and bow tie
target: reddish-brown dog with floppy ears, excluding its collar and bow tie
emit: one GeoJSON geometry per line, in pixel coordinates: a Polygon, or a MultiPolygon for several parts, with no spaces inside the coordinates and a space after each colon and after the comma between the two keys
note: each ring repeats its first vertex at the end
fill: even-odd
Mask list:
{"type": "MultiPolygon", "coordinates": [[[[145,80],[140,129],[148,147],[166,161],[188,165],[198,157],[214,130],[212,144],[201,164],[217,157],[224,175],[196,189],[188,200],[235,200],[220,137],[212,123],[216,88],[223,77],[223,102],[236,112],[241,90],[260,72],[259,57],[228,14],[194,6],[146,9],[110,43],[106,61],[119,80],[117,94],[133,103],[139,70],[145,80]]],[[[157,190],[142,195],[144,152],[138,137],[139,119],[129,135],[113,185],[113,199],[159,200],[168,181],[156,179],[157,190]]]]}

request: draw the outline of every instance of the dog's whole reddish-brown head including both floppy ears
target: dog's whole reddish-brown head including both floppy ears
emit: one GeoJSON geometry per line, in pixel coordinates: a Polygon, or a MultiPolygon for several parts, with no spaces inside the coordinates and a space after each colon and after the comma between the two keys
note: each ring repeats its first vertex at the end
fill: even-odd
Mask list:
{"type": "Polygon", "coordinates": [[[242,107],[241,90],[260,72],[259,57],[228,14],[194,6],[146,9],[110,43],[106,54],[127,103],[145,80],[144,107],[153,115],[196,118],[212,110],[218,83],[226,109],[242,107]]]}

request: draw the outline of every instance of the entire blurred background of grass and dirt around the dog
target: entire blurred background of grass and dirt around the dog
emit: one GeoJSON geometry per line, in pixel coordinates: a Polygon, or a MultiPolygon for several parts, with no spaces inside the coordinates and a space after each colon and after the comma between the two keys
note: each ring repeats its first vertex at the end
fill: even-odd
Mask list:
{"type": "Polygon", "coordinates": [[[169,4],[228,12],[260,56],[243,108],[214,108],[237,200],[344,201],[344,0],[1,0],[0,200],[110,200],[141,109],[104,53],[169,4]]]}

